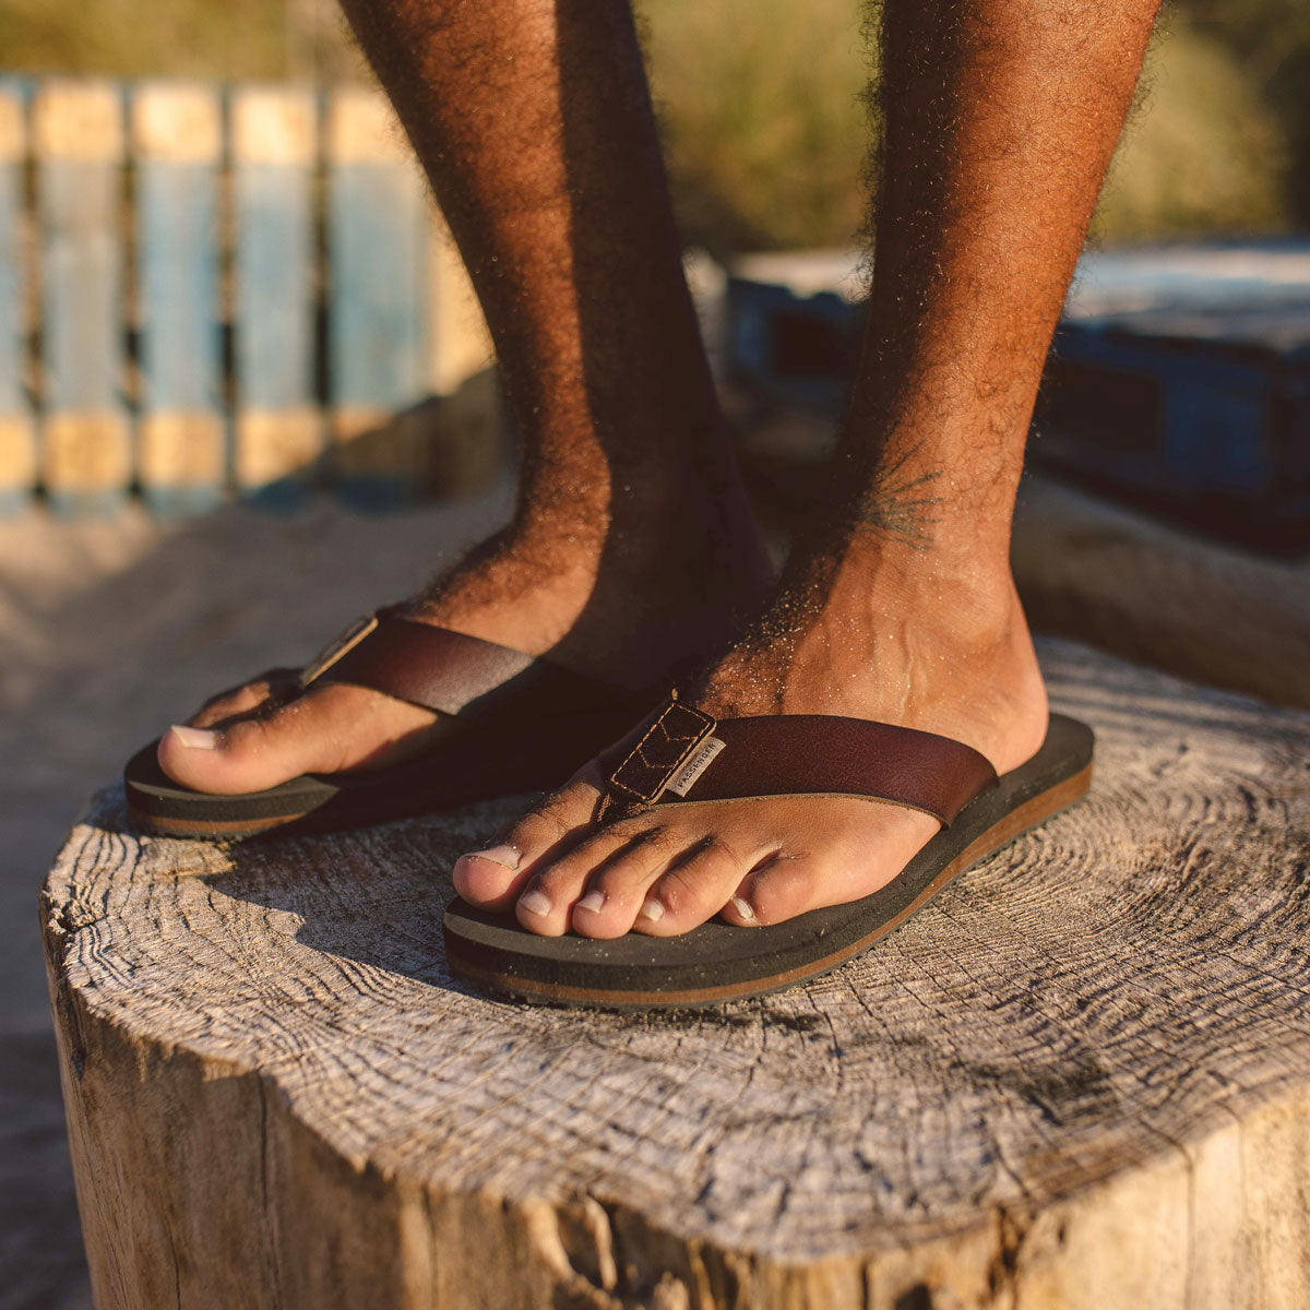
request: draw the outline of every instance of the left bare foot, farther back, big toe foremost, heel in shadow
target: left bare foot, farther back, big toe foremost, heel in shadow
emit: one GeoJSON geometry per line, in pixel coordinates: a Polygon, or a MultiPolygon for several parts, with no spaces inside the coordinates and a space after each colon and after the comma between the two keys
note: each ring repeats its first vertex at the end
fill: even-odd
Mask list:
{"type": "MultiPolygon", "coordinates": [[[[681,495],[669,533],[654,528],[648,506],[639,517],[641,531],[627,532],[608,517],[588,524],[576,507],[538,515],[477,548],[406,617],[549,652],[618,686],[655,685],[728,639],[772,578],[736,493],[701,506],[681,495]]],[[[440,731],[431,711],[364,688],[325,684],[292,700],[280,692],[257,680],[207,702],[164,735],[161,768],[199,791],[257,791],[301,773],[393,764],[440,731]]]]}

